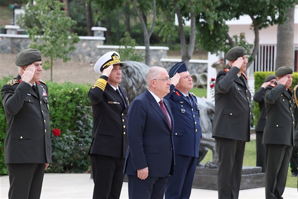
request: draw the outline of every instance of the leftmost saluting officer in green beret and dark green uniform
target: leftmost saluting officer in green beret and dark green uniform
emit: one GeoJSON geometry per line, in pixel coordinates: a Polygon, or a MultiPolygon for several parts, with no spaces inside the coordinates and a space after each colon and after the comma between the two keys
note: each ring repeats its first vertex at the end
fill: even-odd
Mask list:
{"type": "Polygon", "coordinates": [[[48,88],[40,80],[41,54],[19,52],[19,75],[1,89],[7,129],[4,158],[9,174],[9,199],[39,199],[44,172],[52,162],[48,88]]]}

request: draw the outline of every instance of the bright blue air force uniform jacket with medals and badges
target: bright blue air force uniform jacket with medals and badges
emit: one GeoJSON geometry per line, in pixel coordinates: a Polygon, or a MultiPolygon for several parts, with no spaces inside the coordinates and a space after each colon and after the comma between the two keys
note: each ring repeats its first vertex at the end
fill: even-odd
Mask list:
{"type": "Polygon", "coordinates": [[[202,136],[200,110],[195,96],[189,93],[190,101],[175,89],[170,87],[170,93],[164,97],[171,105],[174,116],[173,141],[175,154],[199,157],[199,147],[202,136]]]}

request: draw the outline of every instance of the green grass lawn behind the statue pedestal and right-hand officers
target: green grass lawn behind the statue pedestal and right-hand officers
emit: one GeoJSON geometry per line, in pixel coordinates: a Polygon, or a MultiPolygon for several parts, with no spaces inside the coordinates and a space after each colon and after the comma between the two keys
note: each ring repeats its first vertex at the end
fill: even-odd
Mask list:
{"type": "MultiPolygon", "coordinates": [[[[209,150],[205,158],[202,160],[202,164],[212,161],[212,151],[209,150]]],[[[243,166],[255,166],[256,165],[256,140],[251,140],[245,144],[245,153],[243,166]]],[[[297,177],[292,177],[291,168],[289,166],[288,178],[286,187],[297,188],[297,177]]]]}

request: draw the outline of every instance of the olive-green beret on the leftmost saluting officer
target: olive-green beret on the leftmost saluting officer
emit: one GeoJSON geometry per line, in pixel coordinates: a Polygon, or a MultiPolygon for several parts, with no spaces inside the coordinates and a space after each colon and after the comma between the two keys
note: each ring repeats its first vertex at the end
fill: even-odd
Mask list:
{"type": "Polygon", "coordinates": [[[38,61],[41,61],[40,51],[37,49],[28,48],[22,50],[16,55],[14,63],[17,66],[27,66],[38,61]]]}

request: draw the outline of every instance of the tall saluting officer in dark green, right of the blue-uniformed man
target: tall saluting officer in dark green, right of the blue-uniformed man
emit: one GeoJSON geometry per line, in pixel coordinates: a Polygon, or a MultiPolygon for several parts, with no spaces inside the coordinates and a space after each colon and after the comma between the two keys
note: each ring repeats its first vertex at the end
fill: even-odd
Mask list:
{"type": "Polygon", "coordinates": [[[239,195],[245,142],[250,141],[251,95],[247,86],[246,51],[241,46],[225,55],[228,69],[220,71],[215,83],[213,137],[219,151],[219,199],[239,195]]]}

